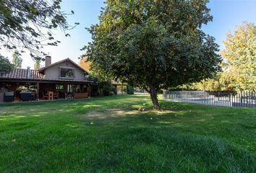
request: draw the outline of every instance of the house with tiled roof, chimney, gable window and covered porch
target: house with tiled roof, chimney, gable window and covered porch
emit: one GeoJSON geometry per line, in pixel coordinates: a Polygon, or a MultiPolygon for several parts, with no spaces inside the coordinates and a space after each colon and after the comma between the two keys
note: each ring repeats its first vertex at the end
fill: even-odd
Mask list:
{"type": "Polygon", "coordinates": [[[87,80],[84,68],[69,58],[51,63],[51,56],[46,56],[45,63],[39,70],[14,68],[9,74],[1,74],[0,94],[13,92],[16,101],[27,92],[36,100],[90,97],[93,81],[87,80]]]}

